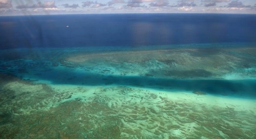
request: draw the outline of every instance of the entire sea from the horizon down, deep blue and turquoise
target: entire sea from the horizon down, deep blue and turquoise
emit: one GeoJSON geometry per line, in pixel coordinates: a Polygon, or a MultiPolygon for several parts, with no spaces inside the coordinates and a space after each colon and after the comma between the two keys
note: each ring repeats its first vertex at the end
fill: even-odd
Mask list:
{"type": "Polygon", "coordinates": [[[255,31],[246,14],[0,16],[0,138],[254,139],[255,31]]]}

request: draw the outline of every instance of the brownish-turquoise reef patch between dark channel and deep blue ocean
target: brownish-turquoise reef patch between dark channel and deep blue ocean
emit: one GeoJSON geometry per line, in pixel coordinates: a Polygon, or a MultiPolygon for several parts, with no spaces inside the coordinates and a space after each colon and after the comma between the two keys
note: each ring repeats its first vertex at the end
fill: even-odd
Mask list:
{"type": "Polygon", "coordinates": [[[93,72],[174,79],[226,79],[255,77],[255,47],[163,48],[115,52],[77,52],[63,55],[64,65],[95,66],[93,72]],[[230,77],[235,75],[235,77],[230,77]]]}

